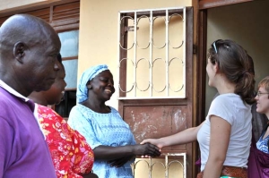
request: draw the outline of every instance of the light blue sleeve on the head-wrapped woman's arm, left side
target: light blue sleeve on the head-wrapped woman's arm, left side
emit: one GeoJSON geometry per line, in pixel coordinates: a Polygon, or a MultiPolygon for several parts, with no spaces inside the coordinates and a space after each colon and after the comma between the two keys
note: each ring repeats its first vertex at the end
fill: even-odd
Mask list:
{"type": "Polygon", "coordinates": [[[77,106],[72,108],[67,123],[71,128],[82,134],[92,149],[102,145],[98,137],[96,137],[96,131],[92,127],[91,118],[86,118],[78,108],[77,106]]]}

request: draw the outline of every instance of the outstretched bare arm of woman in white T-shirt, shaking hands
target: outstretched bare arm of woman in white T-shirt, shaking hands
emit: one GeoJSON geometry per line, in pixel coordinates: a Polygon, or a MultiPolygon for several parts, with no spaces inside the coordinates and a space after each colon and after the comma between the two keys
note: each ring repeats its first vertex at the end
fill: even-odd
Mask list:
{"type": "Polygon", "coordinates": [[[169,135],[167,137],[162,137],[160,139],[143,140],[141,144],[149,142],[156,145],[157,147],[161,149],[161,148],[172,146],[172,145],[181,145],[181,144],[186,144],[186,143],[195,141],[197,140],[197,132],[200,130],[203,123],[201,123],[197,127],[192,127],[184,131],[179,131],[176,134],[169,135]]]}

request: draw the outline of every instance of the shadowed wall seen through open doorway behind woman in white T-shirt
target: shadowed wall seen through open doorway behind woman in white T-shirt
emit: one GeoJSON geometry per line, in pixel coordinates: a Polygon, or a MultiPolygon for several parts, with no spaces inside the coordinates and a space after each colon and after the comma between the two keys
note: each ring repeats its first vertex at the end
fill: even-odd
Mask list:
{"type": "MultiPolygon", "coordinates": [[[[265,0],[208,10],[207,48],[219,38],[238,42],[254,60],[256,85],[269,75],[268,7],[269,1],[265,0]]],[[[215,93],[215,89],[207,86],[206,114],[215,93]]]]}

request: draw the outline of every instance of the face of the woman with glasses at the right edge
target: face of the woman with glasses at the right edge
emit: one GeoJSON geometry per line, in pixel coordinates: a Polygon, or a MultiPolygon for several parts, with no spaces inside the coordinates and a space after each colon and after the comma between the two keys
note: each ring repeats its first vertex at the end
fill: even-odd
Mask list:
{"type": "Polygon", "coordinates": [[[260,87],[256,95],[256,112],[269,114],[269,92],[265,87],[260,87]]]}

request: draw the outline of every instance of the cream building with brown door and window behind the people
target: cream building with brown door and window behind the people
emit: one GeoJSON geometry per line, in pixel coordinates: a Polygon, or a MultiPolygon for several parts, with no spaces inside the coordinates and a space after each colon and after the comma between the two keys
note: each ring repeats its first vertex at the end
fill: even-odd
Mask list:
{"type": "MultiPolygon", "coordinates": [[[[9,0],[8,3],[0,0],[0,24],[15,13],[30,13],[48,21],[58,32],[67,69],[67,92],[65,103],[56,109],[66,118],[75,105],[76,81],[82,72],[91,65],[108,64],[117,89],[108,105],[118,108],[139,142],[182,131],[204,121],[215,94],[207,87],[206,51],[215,39],[231,38],[247,49],[255,60],[256,81],[268,75],[268,4],[266,0],[9,0]],[[167,29],[166,23],[158,18],[156,23],[147,23],[155,17],[166,18],[166,12],[169,12],[168,18],[176,14],[184,21],[170,18],[167,29]],[[138,19],[141,19],[140,23],[134,24],[138,19]],[[148,51],[142,52],[141,48],[125,50],[134,49],[133,45],[138,47],[132,41],[139,41],[141,48],[148,51]],[[147,41],[150,41],[149,48],[147,41]],[[181,41],[184,48],[180,48],[181,41]],[[156,52],[162,44],[165,44],[164,52],[156,52]],[[179,51],[173,52],[173,47],[179,51]],[[156,54],[168,61],[159,64],[156,54]],[[179,56],[172,60],[175,54],[179,56]],[[133,59],[133,64],[126,62],[129,58],[133,59]],[[143,60],[145,58],[147,60],[143,60]],[[154,62],[156,59],[156,63],[153,65],[148,59],[154,62]],[[171,73],[165,77],[168,71],[171,73]],[[151,81],[149,85],[148,81],[151,81]],[[129,89],[132,91],[126,92],[129,89]],[[143,93],[151,89],[152,92],[143,93]]],[[[199,155],[197,143],[164,150],[170,155],[187,154],[185,177],[195,177],[198,172],[195,166],[199,155]]],[[[155,160],[165,164],[163,157],[155,160]]],[[[184,162],[177,155],[169,160],[184,162]]],[[[148,177],[147,165],[137,165],[136,168],[140,170],[134,171],[136,177],[148,177]]],[[[161,165],[152,166],[151,176],[178,177],[176,175],[184,173],[182,166],[179,172],[177,166],[166,168],[169,174],[164,174],[166,170],[161,165]]]]}

